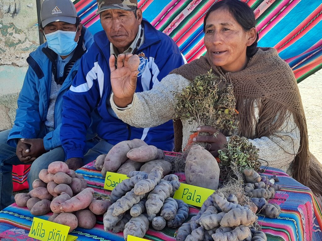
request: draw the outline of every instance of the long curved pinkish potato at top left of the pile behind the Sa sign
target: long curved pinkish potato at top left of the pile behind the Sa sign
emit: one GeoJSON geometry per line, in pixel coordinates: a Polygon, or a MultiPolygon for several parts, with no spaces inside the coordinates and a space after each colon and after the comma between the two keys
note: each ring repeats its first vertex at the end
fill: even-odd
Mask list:
{"type": "Polygon", "coordinates": [[[108,172],[116,172],[128,157],[127,153],[137,147],[146,146],[143,140],[133,139],[129,141],[121,141],[112,147],[104,160],[104,167],[108,172]]]}

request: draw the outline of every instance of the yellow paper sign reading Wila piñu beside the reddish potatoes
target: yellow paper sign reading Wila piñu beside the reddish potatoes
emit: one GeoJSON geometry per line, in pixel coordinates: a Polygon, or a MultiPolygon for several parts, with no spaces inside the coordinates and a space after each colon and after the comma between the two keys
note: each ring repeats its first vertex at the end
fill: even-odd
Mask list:
{"type": "Polygon", "coordinates": [[[28,236],[41,241],[76,240],[76,236],[68,235],[69,229],[69,226],[34,217],[28,236]]]}

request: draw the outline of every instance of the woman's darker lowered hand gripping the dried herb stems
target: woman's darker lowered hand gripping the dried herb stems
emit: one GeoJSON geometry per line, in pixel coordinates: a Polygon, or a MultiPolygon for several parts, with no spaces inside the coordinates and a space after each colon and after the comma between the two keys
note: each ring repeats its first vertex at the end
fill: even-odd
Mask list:
{"type": "Polygon", "coordinates": [[[198,132],[207,132],[208,136],[196,136],[194,142],[203,142],[208,143],[206,149],[214,156],[217,157],[218,150],[223,149],[223,145],[227,143],[227,138],[223,133],[218,132],[216,128],[212,126],[200,126],[197,128],[198,132]],[[218,133],[217,133],[218,132],[218,133]],[[213,136],[214,133],[217,133],[216,137],[213,136]]]}

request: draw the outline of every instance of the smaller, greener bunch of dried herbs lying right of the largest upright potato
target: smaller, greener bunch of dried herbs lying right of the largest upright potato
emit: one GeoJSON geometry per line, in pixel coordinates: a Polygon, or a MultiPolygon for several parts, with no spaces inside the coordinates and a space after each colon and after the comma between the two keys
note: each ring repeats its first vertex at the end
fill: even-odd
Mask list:
{"type": "Polygon", "coordinates": [[[239,176],[244,169],[253,169],[256,172],[260,170],[259,149],[245,137],[231,136],[224,148],[218,152],[223,179],[231,173],[239,176]]]}

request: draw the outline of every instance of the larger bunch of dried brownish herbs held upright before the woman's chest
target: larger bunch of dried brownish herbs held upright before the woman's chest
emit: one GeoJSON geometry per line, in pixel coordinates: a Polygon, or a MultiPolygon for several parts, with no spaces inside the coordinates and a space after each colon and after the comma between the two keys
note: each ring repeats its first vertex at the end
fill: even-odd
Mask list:
{"type": "Polygon", "coordinates": [[[199,126],[212,126],[228,135],[237,128],[233,87],[212,70],[175,93],[175,103],[174,119],[196,121],[199,126]]]}

